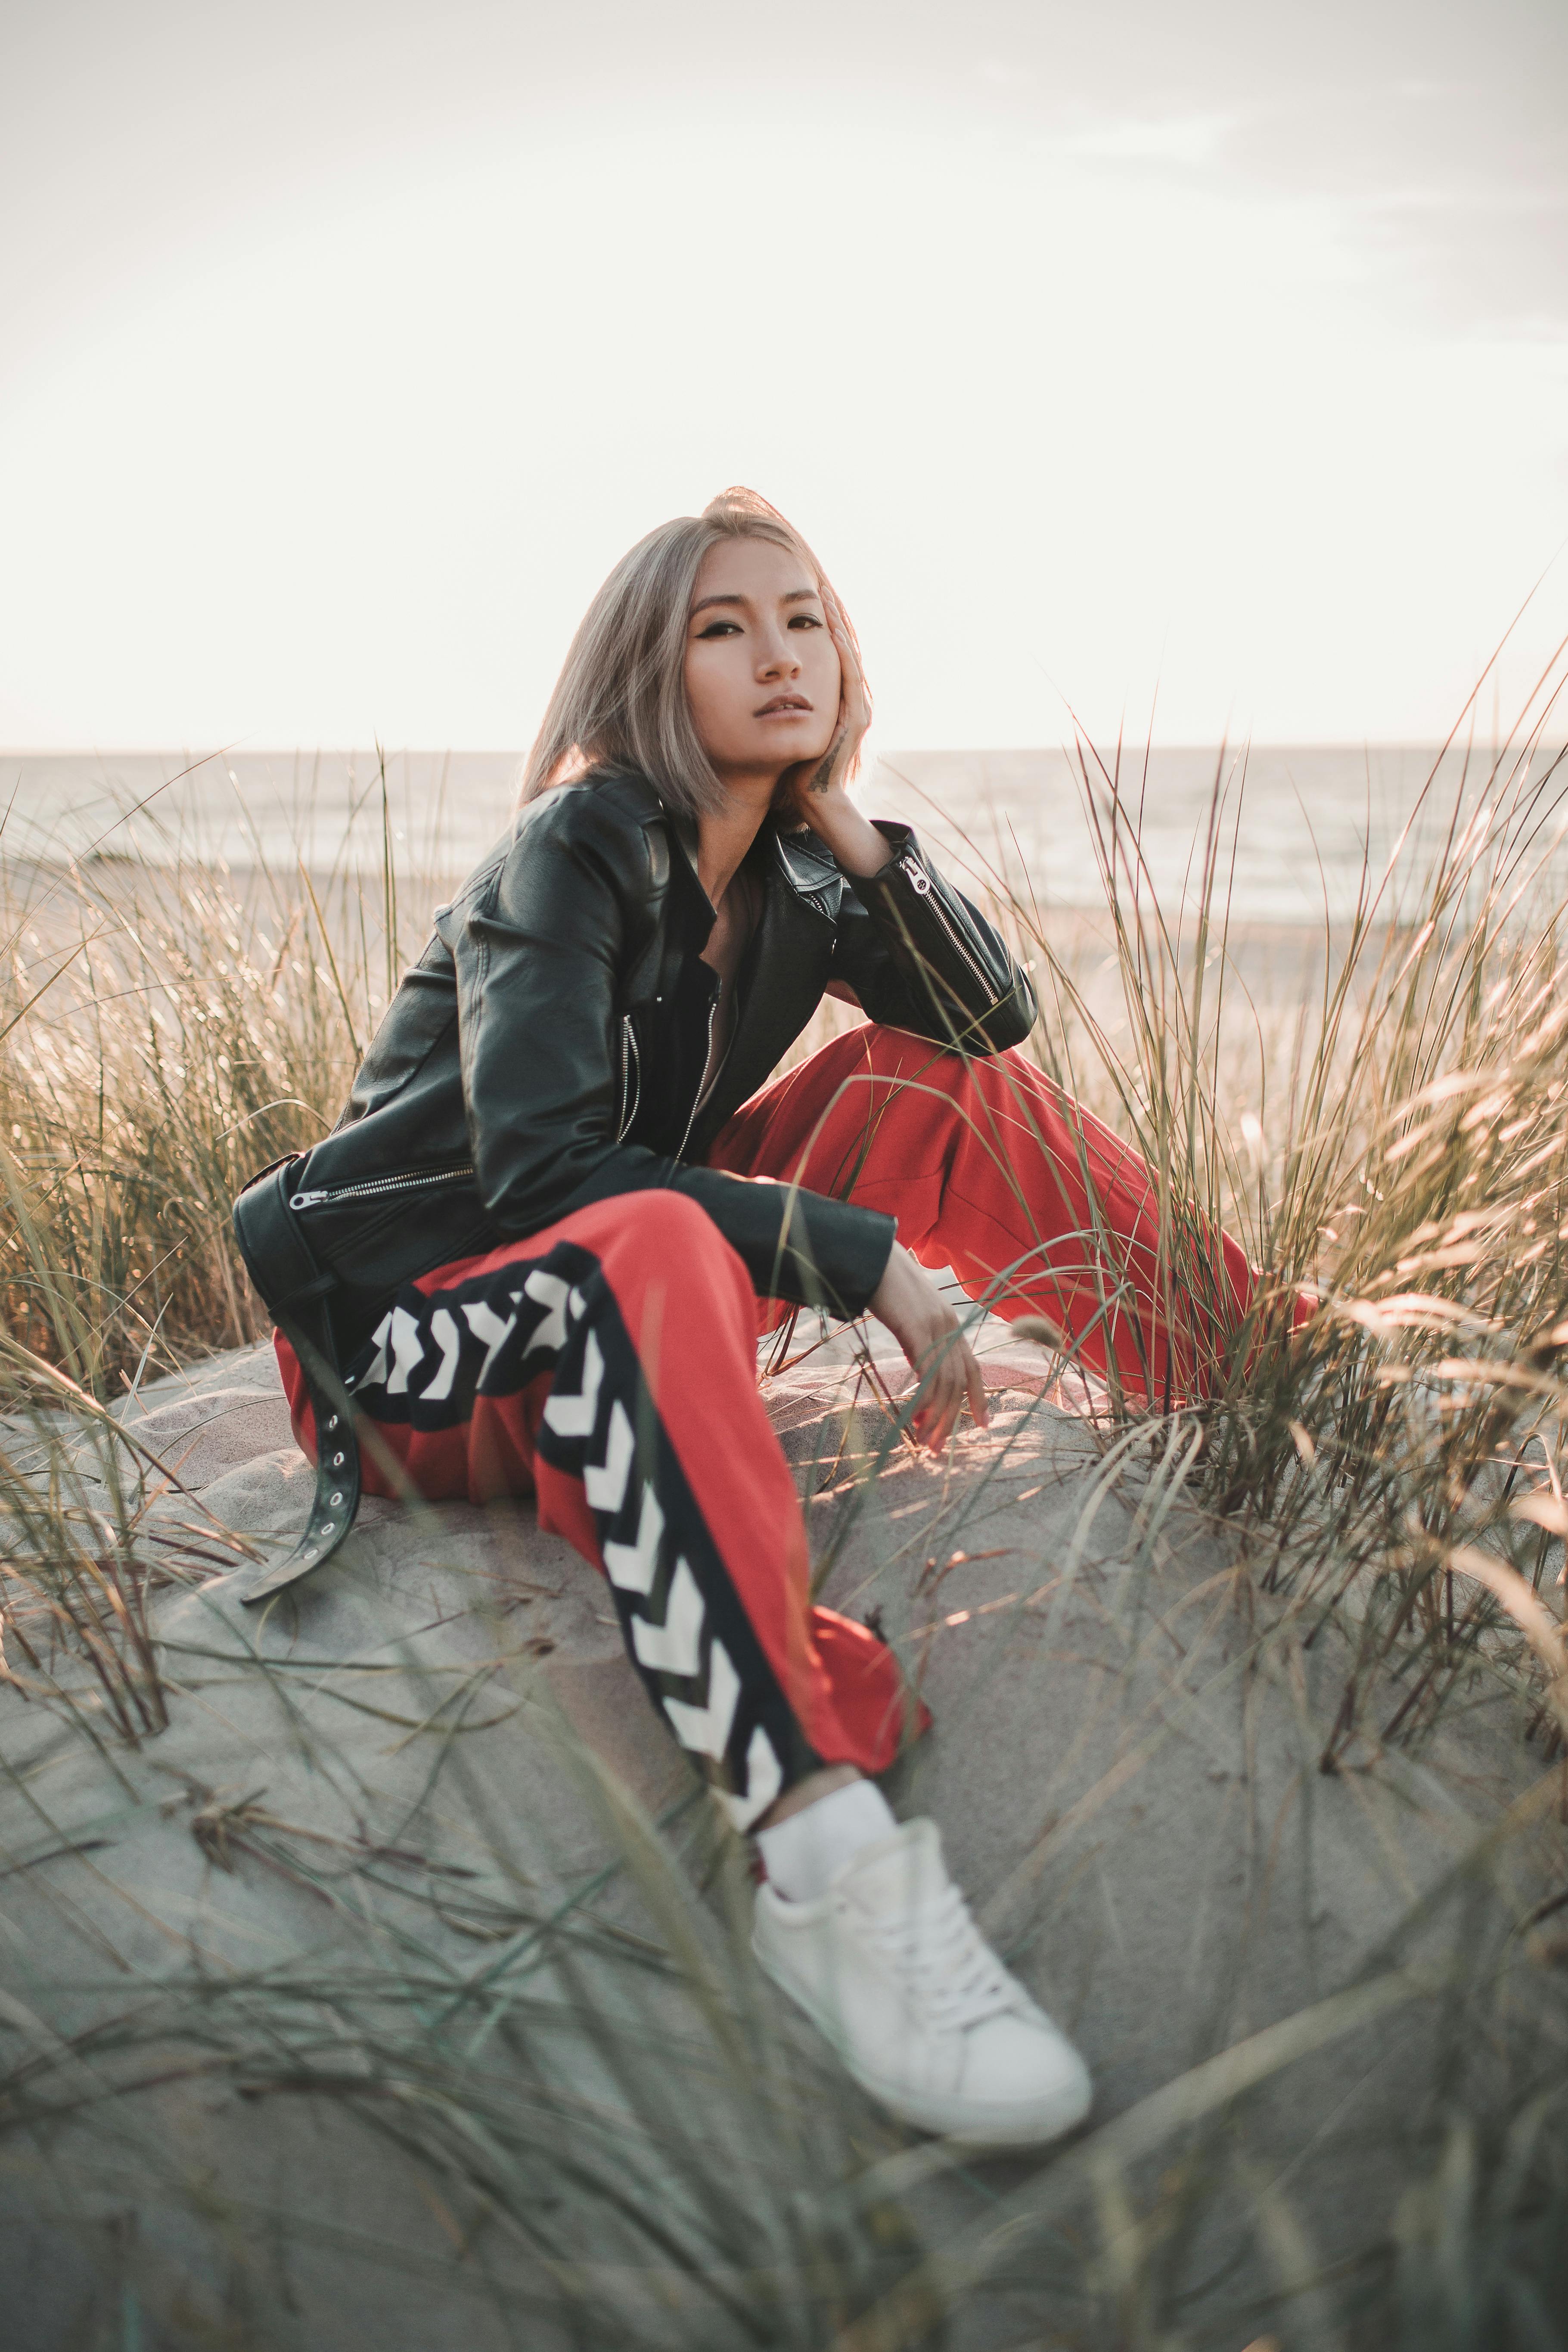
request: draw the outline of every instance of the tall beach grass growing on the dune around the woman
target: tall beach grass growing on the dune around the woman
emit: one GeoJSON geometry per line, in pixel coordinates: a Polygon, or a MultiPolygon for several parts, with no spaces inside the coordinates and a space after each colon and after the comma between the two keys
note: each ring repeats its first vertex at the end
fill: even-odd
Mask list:
{"type": "MultiPolygon", "coordinates": [[[[1213,821],[1171,906],[1140,858],[1138,762],[1081,746],[1105,884],[1091,946],[1065,943],[980,828],[969,851],[973,887],[1034,964],[1030,1051],[1154,1171],[1171,1298],[1206,1289],[1215,1223],[1262,1270],[1208,1402],[1150,1409],[1114,1378],[1095,1388],[1084,1425],[1103,1477],[1222,1529],[1237,1595],[1284,1611],[1295,1639],[1321,1628],[1335,1672],[1316,1703],[1319,1773],[1342,1778],[1380,1750],[1418,1755],[1453,1726],[1462,1736],[1476,1693],[1505,1691],[1544,1790],[1537,1809],[1559,1783],[1568,1802],[1556,847],[1568,769],[1535,757],[1552,710],[1547,680],[1455,807],[1422,811],[1434,842],[1418,875],[1368,868],[1354,920],[1324,927],[1309,990],[1284,1004],[1248,995],[1229,953],[1237,762],[1215,771],[1213,821]],[[1293,1334],[1302,1289],[1319,1312],[1293,1334]]],[[[397,873],[390,833],[386,844],[367,882],[348,856],[315,875],[54,868],[5,861],[0,840],[0,1548],[14,1682],[0,1698],[54,1710],[106,1769],[115,1750],[155,1755],[190,1682],[188,1658],[160,1642],[160,1595],[200,1597],[247,1550],[195,1501],[174,1531],[150,1510],[167,1479],[118,1406],[160,1371],[263,1331],[228,1204],[252,1169],[331,1124],[421,943],[418,884],[397,873]]],[[[1070,1371],[1070,1352],[1056,1355],[1070,1371]]],[[[397,1719],[418,1729],[418,1665],[407,1672],[397,1719]]],[[[277,1705],[294,1705],[275,1679],[277,1705]]],[[[71,2201],[89,2194],[85,2176],[40,2150],[87,2110],[101,2117],[94,2213],[103,2178],[141,2169],[190,2211],[205,2194],[212,2227],[237,2241],[247,2216],[212,2183],[200,2190],[200,2169],[155,2131],[148,2096],[176,2065],[259,2103],[287,2089],[324,2100],[341,2112],[346,2161],[371,2140],[393,2147],[451,2225],[451,2279],[461,2272],[487,2326],[520,2345],[891,2352],[947,2340],[985,2281],[1018,2274],[1034,2312],[1018,2352],[1025,2340],[1197,2352],[1182,2310],[1220,2209],[1246,2216],[1274,2277],[1267,2307],[1237,2310],[1237,2352],[1568,2340],[1568,2046],[1519,1992],[1521,1980],[1561,1990],[1568,1886],[1502,1950],[1476,1931],[1436,1976],[1429,1955],[1389,1950],[1225,2051],[1173,2056],[1150,2100],[987,2180],[961,2152],[889,2136],[825,2063],[802,2077],[757,1997],[745,1884],[710,1825],[684,1813],[656,1830],[545,1708],[538,1738],[604,1828],[625,1915],[607,1919],[597,1884],[541,1910],[524,1893],[541,1884],[538,1853],[487,1816],[484,1853],[435,1856],[414,1912],[381,1917],[355,1964],[322,1973],[301,1950],[294,1966],[223,1973],[190,1959],[120,1987],[108,2023],[9,2032],[0,2180],[24,2183],[47,2227],[82,2244],[92,2232],[71,2201]],[[447,1865],[508,1889],[487,1898],[491,1964],[461,1980],[414,1917],[447,1900],[447,1865]],[[1446,2093],[1389,2147],[1392,2220],[1347,2279],[1222,2126],[1302,2053],[1410,2002],[1436,2004],[1446,2093]],[[592,2096],[571,2072],[583,2049],[592,2096]],[[969,2199],[938,2239],[933,2183],[969,2199]],[[465,2256],[482,2239],[496,2251],[475,2272],[465,2256]]],[[[369,1851],[331,1860],[247,1792],[216,1806],[207,1835],[329,1903],[357,1903],[386,1872],[369,1851]]],[[[310,2234],[308,2218],[296,2225],[310,2234]]],[[[167,2249],[113,2232],[94,2244],[94,2260],[120,2265],[122,2314],[167,2296],[167,2249]]],[[[186,2281],[186,2319],[153,2340],[284,2340],[275,2319],[247,2333],[240,2288],[190,2300],[186,2281]]]]}

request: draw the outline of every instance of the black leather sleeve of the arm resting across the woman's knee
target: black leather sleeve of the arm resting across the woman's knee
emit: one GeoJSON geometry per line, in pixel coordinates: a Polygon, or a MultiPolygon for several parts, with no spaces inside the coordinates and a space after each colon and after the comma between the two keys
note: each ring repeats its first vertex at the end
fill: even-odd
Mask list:
{"type": "Polygon", "coordinates": [[[644,946],[646,858],[646,837],[604,821],[592,793],[562,793],[529,816],[527,851],[442,920],[484,1209],[527,1235],[618,1192],[686,1192],[759,1296],[858,1315],[882,1282],[891,1216],[616,1141],[616,974],[644,946]]]}

